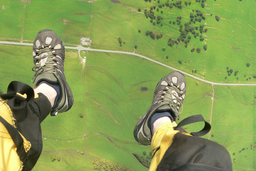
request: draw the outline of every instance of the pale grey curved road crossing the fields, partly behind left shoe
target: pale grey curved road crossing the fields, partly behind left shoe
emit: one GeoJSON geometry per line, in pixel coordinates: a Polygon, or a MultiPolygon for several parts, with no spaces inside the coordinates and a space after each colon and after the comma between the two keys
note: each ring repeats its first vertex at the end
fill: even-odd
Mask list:
{"type": "MultiPolygon", "coordinates": [[[[33,46],[32,43],[19,43],[19,42],[6,42],[6,41],[0,41],[0,44],[10,44],[10,45],[25,45],[25,46],[33,46]]],[[[181,73],[183,73],[184,75],[187,75],[187,76],[190,76],[192,78],[195,78],[197,80],[200,80],[200,81],[203,81],[203,82],[206,82],[206,83],[209,83],[209,84],[212,84],[212,85],[227,85],[227,86],[256,86],[256,84],[228,84],[228,83],[217,83],[217,82],[212,82],[212,81],[207,81],[207,80],[204,80],[202,78],[198,78],[198,77],[195,77],[191,74],[188,74],[188,73],[185,73],[183,71],[180,71],[179,69],[176,69],[174,67],[171,67],[171,66],[168,66],[166,64],[162,64],[161,62],[158,62],[158,61],[155,61],[153,59],[150,59],[148,57],[145,57],[143,55],[139,55],[139,54],[136,54],[136,53],[131,53],[131,52],[123,52],[123,51],[115,51],[115,50],[101,50],[101,49],[91,49],[91,48],[84,48],[82,46],[77,46],[77,47],[69,47],[69,46],[65,46],[66,49],[74,49],[74,50],[88,50],[88,51],[97,51],[97,52],[109,52],[109,53],[121,53],[121,54],[128,54],[128,55],[134,55],[134,56],[138,56],[138,57],[141,57],[141,58],[144,58],[146,60],[149,60],[151,62],[154,62],[154,63],[157,63],[157,64],[160,64],[162,66],[165,66],[167,68],[170,68],[172,70],[176,70],[176,71],[179,71],[181,73]]]]}

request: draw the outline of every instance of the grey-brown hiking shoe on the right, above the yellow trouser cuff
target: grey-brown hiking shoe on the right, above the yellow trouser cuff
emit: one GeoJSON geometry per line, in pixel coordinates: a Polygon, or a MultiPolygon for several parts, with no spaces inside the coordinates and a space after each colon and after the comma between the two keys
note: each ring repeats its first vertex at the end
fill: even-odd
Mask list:
{"type": "Polygon", "coordinates": [[[164,76],[156,86],[152,105],[134,128],[134,138],[142,145],[151,144],[152,133],[149,125],[155,113],[167,111],[170,112],[174,121],[179,120],[185,93],[186,80],[183,74],[174,71],[164,76]],[[179,110],[181,111],[179,112],[179,110]]]}

